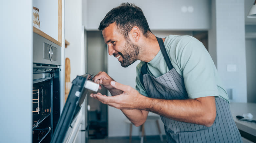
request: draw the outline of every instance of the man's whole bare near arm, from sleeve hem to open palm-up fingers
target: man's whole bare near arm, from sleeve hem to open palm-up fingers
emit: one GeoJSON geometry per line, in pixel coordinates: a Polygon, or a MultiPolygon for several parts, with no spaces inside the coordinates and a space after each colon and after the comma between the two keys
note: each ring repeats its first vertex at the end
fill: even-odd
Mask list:
{"type": "MultiPolygon", "coordinates": [[[[92,96],[117,109],[146,110],[169,119],[208,127],[213,124],[216,117],[215,97],[213,96],[186,100],[163,100],[145,97],[132,87],[117,82],[111,82],[111,85],[124,92],[113,97],[107,97],[100,93],[92,94],[92,96]]],[[[137,119],[133,116],[131,115],[131,121],[134,121],[134,124],[140,124],[139,119],[141,118],[137,119]]]]}

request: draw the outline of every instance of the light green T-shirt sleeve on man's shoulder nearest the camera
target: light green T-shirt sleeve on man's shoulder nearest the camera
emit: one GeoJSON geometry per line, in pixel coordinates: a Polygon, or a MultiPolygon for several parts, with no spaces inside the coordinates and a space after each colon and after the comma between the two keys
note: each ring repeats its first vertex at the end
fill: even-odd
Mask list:
{"type": "Polygon", "coordinates": [[[215,80],[216,68],[203,44],[192,39],[176,52],[188,97],[190,99],[206,96],[219,97],[215,80]]]}

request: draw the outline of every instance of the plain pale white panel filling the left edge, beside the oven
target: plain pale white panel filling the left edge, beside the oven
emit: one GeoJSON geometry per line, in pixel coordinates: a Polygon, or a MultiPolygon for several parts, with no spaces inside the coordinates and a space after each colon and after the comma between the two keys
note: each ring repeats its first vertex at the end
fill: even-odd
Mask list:
{"type": "Polygon", "coordinates": [[[0,4],[0,138],[32,142],[32,0],[0,4]]]}

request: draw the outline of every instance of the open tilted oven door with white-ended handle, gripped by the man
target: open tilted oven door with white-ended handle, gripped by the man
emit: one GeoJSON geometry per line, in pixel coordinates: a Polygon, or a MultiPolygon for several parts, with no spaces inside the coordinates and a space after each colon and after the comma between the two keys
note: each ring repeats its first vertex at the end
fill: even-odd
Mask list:
{"type": "MultiPolygon", "coordinates": [[[[91,82],[92,78],[92,74],[87,73],[81,76],[77,76],[73,80],[72,87],[58,121],[56,130],[53,134],[51,143],[62,143],[63,141],[70,142],[72,133],[68,130],[72,130],[74,127],[74,120],[78,116],[88,89],[94,91],[98,90],[99,85],[91,82]]],[[[87,129],[88,127],[86,127],[85,131],[87,129]]]]}

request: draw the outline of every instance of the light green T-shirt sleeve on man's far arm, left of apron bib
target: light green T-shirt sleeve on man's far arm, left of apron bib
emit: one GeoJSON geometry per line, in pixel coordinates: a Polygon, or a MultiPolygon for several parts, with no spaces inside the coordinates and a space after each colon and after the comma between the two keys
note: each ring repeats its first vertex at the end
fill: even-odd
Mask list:
{"type": "Polygon", "coordinates": [[[140,71],[141,71],[141,66],[142,66],[143,64],[144,64],[144,62],[140,62],[140,63],[137,65],[137,67],[136,67],[136,74],[137,74],[137,76],[136,76],[136,80],[135,80],[135,82],[136,82],[135,89],[136,89],[141,95],[144,95],[144,96],[148,97],[147,91],[145,90],[143,84],[142,84],[141,81],[140,81],[140,76],[142,76],[140,71]]]}

